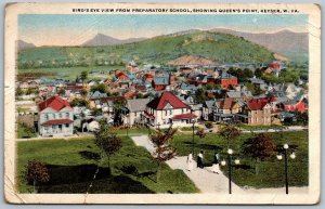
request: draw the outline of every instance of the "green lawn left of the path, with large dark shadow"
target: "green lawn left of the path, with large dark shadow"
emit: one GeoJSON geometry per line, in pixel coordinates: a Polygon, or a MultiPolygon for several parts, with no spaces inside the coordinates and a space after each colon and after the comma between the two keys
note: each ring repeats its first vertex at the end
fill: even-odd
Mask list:
{"type": "Polygon", "coordinates": [[[50,181],[40,193],[86,193],[99,168],[89,193],[196,193],[198,190],[181,170],[171,170],[162,164],[157,181],[158,165],[143,147],[122,136],[122,147],[107,157],[92,139],[42,140],[17,142],[17,190],[31,193],[32,186],[24,179],[28,160],[43,161],[50,170],[50,181]]]}

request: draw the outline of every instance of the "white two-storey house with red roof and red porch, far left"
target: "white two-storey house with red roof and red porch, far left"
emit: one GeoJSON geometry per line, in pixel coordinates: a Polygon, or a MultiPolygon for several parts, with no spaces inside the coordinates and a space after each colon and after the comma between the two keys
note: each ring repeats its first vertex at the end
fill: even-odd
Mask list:
{"type": "Polygon", "coordinates": [[[60,96],[52,96],[38,105],[38,130],[41,136],[74,134],[74,109],[60,96]]]}

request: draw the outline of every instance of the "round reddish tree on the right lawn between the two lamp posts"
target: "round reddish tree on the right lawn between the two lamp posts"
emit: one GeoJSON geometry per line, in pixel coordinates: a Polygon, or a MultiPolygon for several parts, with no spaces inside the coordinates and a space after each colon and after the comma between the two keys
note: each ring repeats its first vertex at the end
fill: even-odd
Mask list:
{"type": "Polygon", "coordinates": [[[258,161],[273,155],[275,144],[272,138],[266,133],[259,133],[253,138],[249,138],[242,145],[243,153],[255,158],[255,172],[258,174],[258,161]]]}

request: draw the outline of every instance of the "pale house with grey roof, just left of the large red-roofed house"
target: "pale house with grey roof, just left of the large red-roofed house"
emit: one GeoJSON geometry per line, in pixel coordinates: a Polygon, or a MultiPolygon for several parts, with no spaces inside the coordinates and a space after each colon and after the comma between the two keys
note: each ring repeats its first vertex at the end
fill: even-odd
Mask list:
{"type": "Polygon", "coordinates": [[[144,114],[146,104],[150,102],[150,99],[135,99],[127,100],[127,105],[123,108],[123,125],[127,126],[136,126],[142,125],[141,115],[144,114]]]}

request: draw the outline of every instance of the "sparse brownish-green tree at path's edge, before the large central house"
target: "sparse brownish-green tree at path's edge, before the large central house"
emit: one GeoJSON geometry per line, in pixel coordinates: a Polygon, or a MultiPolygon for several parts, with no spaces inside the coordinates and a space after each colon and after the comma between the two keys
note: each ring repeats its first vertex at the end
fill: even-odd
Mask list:
{"type": "Polygon", "coordinates": [[[151,141],[155,146],[154,158],[158,161],[158,170],[157,170],[157,181],[159,181],[159,170],[161,167],[161,162],[169,160],[176,156],[176,149],[169,145],[169,140],[172,139],[173,134],[177,132],[177,129],[171,128],[161,130],[157,129],[155,133],[150,135],[151,141]]]}

